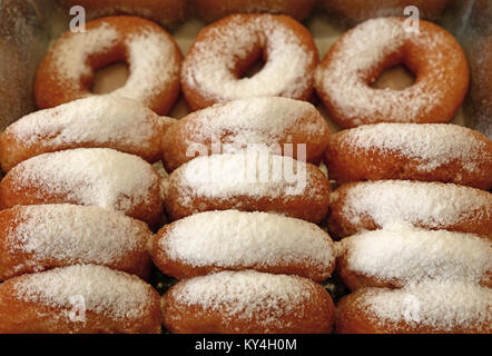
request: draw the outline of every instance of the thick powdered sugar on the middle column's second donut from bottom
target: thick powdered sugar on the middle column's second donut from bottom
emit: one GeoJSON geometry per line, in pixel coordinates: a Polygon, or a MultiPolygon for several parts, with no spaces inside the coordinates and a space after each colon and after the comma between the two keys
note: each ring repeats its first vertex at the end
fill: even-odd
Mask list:
{"type": "Polygon", "coordinates": [[[316,225],[265,212],[207,211],[178,220],[159,246],[191,266],[307,264],[331,269],[334,246],[316,225]]]}

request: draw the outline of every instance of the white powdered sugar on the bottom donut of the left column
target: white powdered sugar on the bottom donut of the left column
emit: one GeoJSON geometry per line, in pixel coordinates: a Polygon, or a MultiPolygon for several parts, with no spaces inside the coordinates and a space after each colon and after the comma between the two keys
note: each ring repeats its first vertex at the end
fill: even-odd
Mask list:
{"type": "Polygon", "coordinates": [[[96,265],[77,265],[24,275],[13,289],[20,300],[39,303],[59,310],[68,318],[73,298],[82,300],[86,310],[116,320],[138,320],[148,313],[152,289],[136,276],[96,265]]]}

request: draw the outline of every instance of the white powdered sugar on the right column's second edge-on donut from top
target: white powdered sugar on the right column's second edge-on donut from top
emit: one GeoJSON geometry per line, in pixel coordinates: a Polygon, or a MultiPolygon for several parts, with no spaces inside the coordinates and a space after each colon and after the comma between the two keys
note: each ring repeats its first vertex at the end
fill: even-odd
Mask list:
{"type": "MultiPolygon", "coordinates": [[[[344,189],[344,219],[362,226],[370,217],[380,228],[395,222],[445,228],[466,220],[492,220],[492,195],[453,184],[409,180],[357,182],[344,189]]],[[[340,197],[335,190],[334,202],[340,197]]]]}

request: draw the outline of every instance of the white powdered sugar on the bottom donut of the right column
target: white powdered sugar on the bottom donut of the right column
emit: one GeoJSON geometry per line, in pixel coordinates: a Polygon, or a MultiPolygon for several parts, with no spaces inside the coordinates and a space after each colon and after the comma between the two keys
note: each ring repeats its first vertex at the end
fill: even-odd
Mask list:
{"type": "Polygon", "coordinates": [[[444,332],[488,329],[492,323],[492,289],[468,283],[423,283],[403,289],[364,289],[361,308],[377,324],[405,323],[444,332]]]}

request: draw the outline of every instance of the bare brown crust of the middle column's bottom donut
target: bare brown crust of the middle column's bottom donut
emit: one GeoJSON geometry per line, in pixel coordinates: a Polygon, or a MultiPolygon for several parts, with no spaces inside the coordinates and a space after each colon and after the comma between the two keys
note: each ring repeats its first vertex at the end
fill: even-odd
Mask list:
{"type": "MultiPolygon", "coordinates": [[[[196,277],[203,278],[203,277],[196,277]]],[[[164,326],[173,334],[329,334],[335,318],[335,306],[329,294],[318,284],[296,276],[299,284],[312,290],[304,305],[292,306],[282,317],[257,313],[253,318],[242,313],[227,316],[225,307],[204,308],[203,306],[179,303],[180,290],[188,281],[184,279],[174,285],[161,299],[164,326]],[[262,319],[269,318],[270,325],[262,319]],[[276,323],[272,324],[272,319],[276,323]],[[282,326],[279,326],[282,325],[282,326]]],[[[210,288],[214,288],[210,285],[210,288]]],[[[209,300],[211,301],[211,300],[209,300]]],[[[277,301],[277,300],[275,300],[277,301]]],[[[266,308],[265,308],[266,309],[266,308]]]]}

